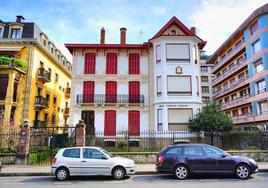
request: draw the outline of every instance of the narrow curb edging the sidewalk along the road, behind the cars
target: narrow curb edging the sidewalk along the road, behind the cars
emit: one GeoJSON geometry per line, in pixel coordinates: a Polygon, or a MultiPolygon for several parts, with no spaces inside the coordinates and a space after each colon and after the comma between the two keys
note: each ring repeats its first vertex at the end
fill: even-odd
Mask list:
{"type": "MultiPolygon", "coordinates": [[[[268,169],[259,169],[259,172],[268,172],[268,169]]],[[[156,171],[137,171],[135,173],[135,175],[155,175],[155,174],[160,174],[156,171]]],[[[12,176],[53,176],[51,173],[47,173],[47,172],[40,172],[40,173],[36,173],[36,172],[32,172],[32,173],[28,173],[28,172],[23,172],[23,173],[0,173],[0,177],[12,177],[12,176]]]]}

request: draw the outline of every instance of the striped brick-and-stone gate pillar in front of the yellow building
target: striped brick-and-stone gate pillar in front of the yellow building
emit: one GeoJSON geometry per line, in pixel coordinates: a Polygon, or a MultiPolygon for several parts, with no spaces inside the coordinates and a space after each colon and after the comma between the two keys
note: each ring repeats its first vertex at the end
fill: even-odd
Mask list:
{"type": "Polygon", "coordinates": [[[19,149],[16,156],[16,164],[27,164],[29,156],[29,145],[30,145],[30,125],[29,120],[25,119],[20,126],[20,141],[19,149]]]}

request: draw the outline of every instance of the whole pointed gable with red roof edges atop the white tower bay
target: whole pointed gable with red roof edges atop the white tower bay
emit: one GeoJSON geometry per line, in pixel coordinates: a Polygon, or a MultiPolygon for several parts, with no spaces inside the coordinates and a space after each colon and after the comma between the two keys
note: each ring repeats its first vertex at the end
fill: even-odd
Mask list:
{"type": "Polygon", "coordinates": [[[170,35],[195,36],[200,40],[199,48],[202,49],[206,45],[206,41],[203,41],[201,38],[199,38],[175,16],[173,16],[150,40],[158,38],[160,36],[170,35]]]}

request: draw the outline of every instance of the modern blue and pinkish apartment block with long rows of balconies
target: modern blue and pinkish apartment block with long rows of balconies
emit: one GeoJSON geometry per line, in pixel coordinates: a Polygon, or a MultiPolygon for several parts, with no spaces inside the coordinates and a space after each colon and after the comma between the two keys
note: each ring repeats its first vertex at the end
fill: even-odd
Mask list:
{"type": "Polygon", "coordinates": [[[209,58],[213,98],[235,125],[268,128],[268,4],[255,10],[209,58]]]}

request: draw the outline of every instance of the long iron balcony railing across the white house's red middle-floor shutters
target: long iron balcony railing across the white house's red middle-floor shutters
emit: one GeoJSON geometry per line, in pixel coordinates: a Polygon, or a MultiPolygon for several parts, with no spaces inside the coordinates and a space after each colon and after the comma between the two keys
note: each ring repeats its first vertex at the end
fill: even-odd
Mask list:
{"type": "Polygon", "coordinates": [[[144,104],[144,95],[79,94],[77,104],[144,104]]]}

